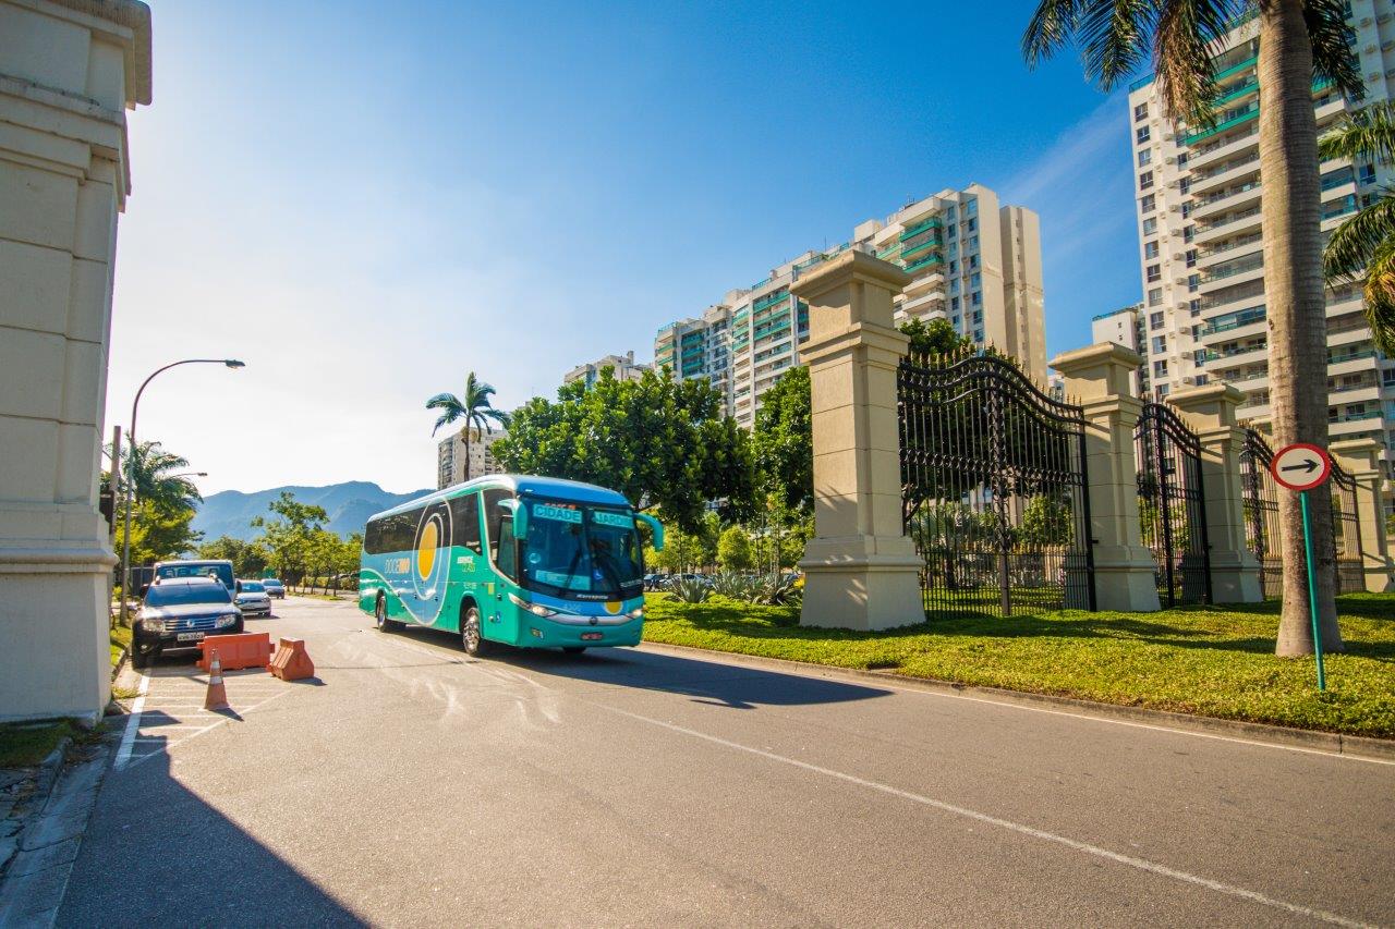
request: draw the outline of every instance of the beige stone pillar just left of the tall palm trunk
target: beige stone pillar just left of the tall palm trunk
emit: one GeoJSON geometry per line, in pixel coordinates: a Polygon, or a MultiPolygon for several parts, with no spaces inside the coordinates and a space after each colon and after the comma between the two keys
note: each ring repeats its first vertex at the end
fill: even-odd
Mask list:
{"type": "Polygon", "coordinates": [[[1244,541],[1240,449],[1244,430],[1236,407],[1244,393],[1229,384],[1207,384],[1170,398],[1201,439],[1201,487],[1207,495],[1207,543],[1211,545],[1211,596],[1215,603],[1260,603],[1260,562],[1244,541]]]}

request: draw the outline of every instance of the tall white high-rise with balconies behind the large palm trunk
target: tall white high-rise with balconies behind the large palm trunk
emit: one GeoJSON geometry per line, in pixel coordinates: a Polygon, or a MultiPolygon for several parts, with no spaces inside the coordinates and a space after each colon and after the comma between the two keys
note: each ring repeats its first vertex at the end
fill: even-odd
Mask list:
{"type": "MultiPolygon", "coordinates": [[[[1353,53],[1366,96],[1348,100],[1313,82],[1318,133],[1343,113],[1391,99],[1395,3],[1350,0],[1353,53]]],[[[1140,229],[1148,375],[1156,396],[1225,381],[1249,396],[1244,418],[1271,414],[1258,151],[1258,21],[1244,18],[1215,56],[1216,126],[1193,130],[1163,116],[1151,78],[1129,95],[1140,229]]],[[[1334,159],[1320,166],[1322,232],[1329,233],[1392,180],[1389,167],[1334,159]]],[[[1334,439],[1385,442],[1395,368],[1371,343],[1359,286],[1327,294],[1328,403],[1334,439]]]]}

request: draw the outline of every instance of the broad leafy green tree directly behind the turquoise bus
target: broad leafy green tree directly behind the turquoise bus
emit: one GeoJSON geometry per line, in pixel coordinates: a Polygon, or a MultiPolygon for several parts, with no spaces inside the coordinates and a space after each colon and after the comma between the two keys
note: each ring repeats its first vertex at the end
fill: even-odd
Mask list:
{"type": "Polygon", "coordinates": [[[555,402],[533,398],[511,420],[494,445],[511,471],[610,487],[692,533],[709,501],[728,520],[753,508],[751,438],[706,381],[674,381],[667,371],[617,381],[601,371],[590,389],[568,384],[555,402]]]}

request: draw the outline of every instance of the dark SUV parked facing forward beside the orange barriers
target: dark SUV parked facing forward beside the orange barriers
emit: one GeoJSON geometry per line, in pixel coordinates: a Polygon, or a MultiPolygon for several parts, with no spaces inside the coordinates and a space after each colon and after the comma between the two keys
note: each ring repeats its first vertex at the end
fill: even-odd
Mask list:
{"type": "MultiPolygon", "coordinates": [[[[269,603],[269,601],[268,601],[269,603]]],[[[131,664],[146,668],[172,649],[197,649],[208,636],[243,630],[233,594],[212,577],[162,577],[145,591],[135,615],[131,664]]]]}

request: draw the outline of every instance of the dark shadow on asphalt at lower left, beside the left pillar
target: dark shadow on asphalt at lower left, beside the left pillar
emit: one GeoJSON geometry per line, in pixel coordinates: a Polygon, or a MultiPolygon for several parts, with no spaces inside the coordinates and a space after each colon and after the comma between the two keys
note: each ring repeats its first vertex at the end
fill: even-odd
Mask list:
{"type": "Polygon", "coordinates": [[[368,925],[223,816],[216,798],[186,790],[169,764],[160,750],[107,771],[56,925],[368,925]]]}

